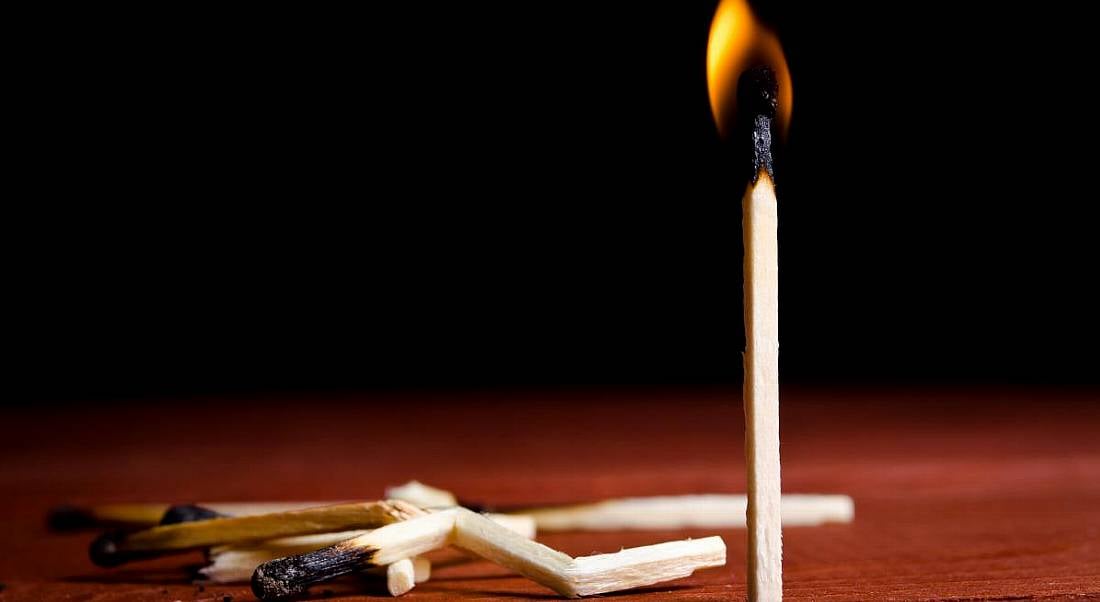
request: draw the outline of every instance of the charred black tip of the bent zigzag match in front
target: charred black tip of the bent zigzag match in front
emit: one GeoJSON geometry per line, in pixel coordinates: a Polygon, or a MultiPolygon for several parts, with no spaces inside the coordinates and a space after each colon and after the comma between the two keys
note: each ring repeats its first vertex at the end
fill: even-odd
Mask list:
{"type": "Polygon", "coordinates": [[[252,593],[260,600],[282,600],[310,585],[354,572],[371,561],[375,550],[343,544],[270,560],[252,573],[252,593]]]}

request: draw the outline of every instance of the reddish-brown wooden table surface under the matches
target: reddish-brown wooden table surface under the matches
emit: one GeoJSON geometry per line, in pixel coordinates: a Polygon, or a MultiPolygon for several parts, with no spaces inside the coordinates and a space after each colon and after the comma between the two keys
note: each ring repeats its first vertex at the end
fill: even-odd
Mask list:
{"type": "MultiPolygon", "coordinates": [[[[783,488],[848,493],[851,525],[784,529],[788,600],[1100,598],[1096,391],[783,392],[783,488]]],[[[251,600],[189,582],[198,554],[92,567],[59,502],[373,499],[408,479],[475,502],[738,492],[735,391],[252,398],[3,411],[0,602],[251,600]]],[[[708,532],[557,534],[572,555],[708,532]]],[[[745,595],[728,565],[616,598],[745,595]]],[[[363,591],[354,579],[316,598],[363,591]]],[[[552,593],[455,552],[410,600],[552,593]]]]}

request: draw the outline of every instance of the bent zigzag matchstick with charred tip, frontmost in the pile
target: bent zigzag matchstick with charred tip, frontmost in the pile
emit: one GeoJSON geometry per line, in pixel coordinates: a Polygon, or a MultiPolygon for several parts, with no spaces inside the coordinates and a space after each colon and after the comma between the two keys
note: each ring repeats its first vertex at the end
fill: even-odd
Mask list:
{"type": "Polygon", "coordinates": [[[726,560],[721,537],[574,559],[455,507],[395,523],[317,551],[265,562],[252,577],[252,591],[261,600],[298,595],[315,583],[452,544],[570,598],[679,579],[697,569],[722,566],[726,560]]]}

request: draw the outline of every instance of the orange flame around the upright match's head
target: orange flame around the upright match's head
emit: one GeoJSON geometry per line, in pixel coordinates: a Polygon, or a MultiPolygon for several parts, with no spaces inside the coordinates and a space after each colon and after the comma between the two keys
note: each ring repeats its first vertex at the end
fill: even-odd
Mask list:
{"type": "Polygon", "coordinates": [[[791,72],[776,34],[757,22],[747,0],[722,0],[711,22],[706,43],[706,87],[711,112],[718,130],[725,133],[736,112],[737,79],[745,69],[766,65],[776,72],[779,84],[779,131],[791,123],[791,72]]]}

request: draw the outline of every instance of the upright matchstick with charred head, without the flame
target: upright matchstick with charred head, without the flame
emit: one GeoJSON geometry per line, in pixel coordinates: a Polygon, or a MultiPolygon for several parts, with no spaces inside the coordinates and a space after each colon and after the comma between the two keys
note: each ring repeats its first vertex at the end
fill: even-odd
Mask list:
{"type": "Polygon", "coordinates": [[[779,464],[779,208],[772,185],[772,122],[779,98],[768,67],[745,72],[738,109],[751,123],[752,182],[741,201],[745,236],[745,451],[748,468],[748,594],[783,598],[779,464]]]}

